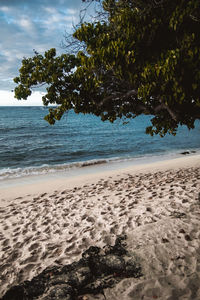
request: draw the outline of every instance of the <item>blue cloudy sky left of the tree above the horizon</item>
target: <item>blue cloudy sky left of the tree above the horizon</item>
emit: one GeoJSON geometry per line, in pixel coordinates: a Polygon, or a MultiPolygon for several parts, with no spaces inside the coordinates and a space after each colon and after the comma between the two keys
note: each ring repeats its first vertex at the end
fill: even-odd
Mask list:
{"type": "Polygon", "coordinates": [[[63,53],[64,34],[72,32],[84,7],[81,0],[0,0],[0,106],[42,105],[40,91],[26,101],[15,99],[13,78],[33,49],[63,53]]]}

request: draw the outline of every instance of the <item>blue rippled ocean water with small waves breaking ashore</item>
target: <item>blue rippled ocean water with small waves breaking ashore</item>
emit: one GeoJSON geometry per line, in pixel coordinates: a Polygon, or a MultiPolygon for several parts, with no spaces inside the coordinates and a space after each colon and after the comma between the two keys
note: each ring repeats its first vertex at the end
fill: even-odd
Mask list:
{"type": "Polygon", "coordinates": [[[70,111],[55,125],[43,107],[0,107],[0,180],[81,168],[87,165],[200,151],[200,122],[177,135],[145,134],[150,116],[123,125],[70,111]]]}

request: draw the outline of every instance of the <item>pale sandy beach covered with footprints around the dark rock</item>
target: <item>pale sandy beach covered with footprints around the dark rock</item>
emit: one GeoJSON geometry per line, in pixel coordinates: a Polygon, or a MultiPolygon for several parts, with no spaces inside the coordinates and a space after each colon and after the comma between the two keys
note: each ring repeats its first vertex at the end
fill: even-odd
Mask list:
{"type": "Polygon", "coordinates": [[[0,188],[0,297],[127,235],[143,276],[85,299],[200,299],[200,155],[0,188]]]}

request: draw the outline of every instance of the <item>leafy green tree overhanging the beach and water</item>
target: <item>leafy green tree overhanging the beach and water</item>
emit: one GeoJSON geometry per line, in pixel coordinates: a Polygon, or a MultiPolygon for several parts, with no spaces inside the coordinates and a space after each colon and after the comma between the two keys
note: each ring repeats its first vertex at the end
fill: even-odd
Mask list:
{"type": "Polygon", "coordinates": [[[65,111],[117,118],[153,115],[146,132],[175,134],[200,119],[200,1],[104,0],[104,17],[82,23],[73,38],[76,54],[25,58],[14,81],[17,99],[47,84],[46,120],[65,111]]]}

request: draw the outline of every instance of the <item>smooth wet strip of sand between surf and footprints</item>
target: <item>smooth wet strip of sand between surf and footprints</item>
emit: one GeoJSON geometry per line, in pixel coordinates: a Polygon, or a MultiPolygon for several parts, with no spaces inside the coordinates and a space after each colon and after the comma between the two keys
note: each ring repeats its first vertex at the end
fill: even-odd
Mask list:
{"type": "Polygon", "coordinates": [[[152,161],[150,159],[149,162],[145,160],[143,163],[131,160],[114,162],[112,164],[86,166],[70,171],[2,180],[2,182],[0,182],[0,206],[2,205],[2,200],[5,202],[14,197],[36,195],[44,193],[47,190],[53,192],[54,190],[61,190],[64,188],[74,188],[75,186],[82,186],[90,183],[90,181],[97,181],[109,176],[116,177],[117,175],[123,175],[123,173],[126,172],[137,174],[140,172],[164,171],[190,166],[200,166],[200,154],[195,153],[171,159],[162,157],[162,159],[158,161],[152,161]]]}

